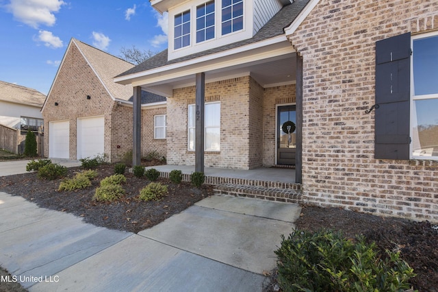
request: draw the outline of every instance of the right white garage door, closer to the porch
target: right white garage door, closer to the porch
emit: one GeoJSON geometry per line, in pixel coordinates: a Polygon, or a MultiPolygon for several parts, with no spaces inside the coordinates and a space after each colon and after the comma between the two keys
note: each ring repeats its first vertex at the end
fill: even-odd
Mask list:
{"type": "Polygon", "coordinates": [[[103,117],[77,119],[77,159],[103,155],[103,117]]]}

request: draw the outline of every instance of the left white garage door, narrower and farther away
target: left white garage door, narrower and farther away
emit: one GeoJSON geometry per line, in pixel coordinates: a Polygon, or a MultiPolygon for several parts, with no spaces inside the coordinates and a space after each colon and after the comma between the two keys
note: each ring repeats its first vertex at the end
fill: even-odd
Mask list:
{"type": "Polygon", "coordinates": [[[49,122],[49,158],[70,158],[70,122],[49,122]]]}

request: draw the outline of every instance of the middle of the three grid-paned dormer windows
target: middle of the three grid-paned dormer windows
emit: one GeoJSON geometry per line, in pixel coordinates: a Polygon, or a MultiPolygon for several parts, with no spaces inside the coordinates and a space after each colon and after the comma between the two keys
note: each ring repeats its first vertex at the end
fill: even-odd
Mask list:
{"type": "Polygon", "coordinates": [[[196,42],[214,38],[214,1],[196,7],[196,42]]]}

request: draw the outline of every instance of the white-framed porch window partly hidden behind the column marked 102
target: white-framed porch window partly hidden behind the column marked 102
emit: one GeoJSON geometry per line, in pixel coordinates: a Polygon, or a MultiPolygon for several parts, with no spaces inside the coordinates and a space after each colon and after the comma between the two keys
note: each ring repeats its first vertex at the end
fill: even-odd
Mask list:
{"type": "MultiPolygon", "coordinates": [[[[188,106],[188,150],[195,150],[195,105],[188,106]]],[[[205,104],[204,150],[220,151],[220,102],[205,104]]]]}

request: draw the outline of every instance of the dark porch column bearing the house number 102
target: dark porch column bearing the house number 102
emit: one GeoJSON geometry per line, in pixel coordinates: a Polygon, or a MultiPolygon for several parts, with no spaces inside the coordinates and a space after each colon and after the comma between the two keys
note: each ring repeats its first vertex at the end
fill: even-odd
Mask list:
{"type": "Polygon", "coordinates": [[[204,172],[205,73],[196,73],[194,171],[204,172]]]}

